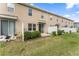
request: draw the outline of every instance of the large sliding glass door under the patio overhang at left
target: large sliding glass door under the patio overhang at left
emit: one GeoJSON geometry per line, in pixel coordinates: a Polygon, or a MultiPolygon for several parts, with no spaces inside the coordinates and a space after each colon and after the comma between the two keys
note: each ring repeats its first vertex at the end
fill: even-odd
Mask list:
{"type": "Polygon", "coordinates": [[[1,20],[1,34],[12,36],[15,32],[15,21],[1,20]]]}

